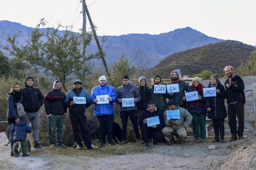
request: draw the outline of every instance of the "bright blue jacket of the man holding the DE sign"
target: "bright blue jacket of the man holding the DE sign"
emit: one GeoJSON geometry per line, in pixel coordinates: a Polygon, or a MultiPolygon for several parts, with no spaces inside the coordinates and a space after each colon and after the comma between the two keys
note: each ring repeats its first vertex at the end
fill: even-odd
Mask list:
{"type": "Polygon", "coordinates": [[[91,102],[94,104],[94,115],[95,116],[101,116],[104,114],[114,114],[115,113],[115,107],[114,102],[116,101],[116,91],[113,86],[110,86],[106,84],[104,87],[102,87],[100,84],[92,89],[91,93],[91,102]],[[112,97],[112,102],[109,104],[97,104],[94,103],[93,100],[96,99],[97,95],[105,95],[108,94],[112,97]]]}

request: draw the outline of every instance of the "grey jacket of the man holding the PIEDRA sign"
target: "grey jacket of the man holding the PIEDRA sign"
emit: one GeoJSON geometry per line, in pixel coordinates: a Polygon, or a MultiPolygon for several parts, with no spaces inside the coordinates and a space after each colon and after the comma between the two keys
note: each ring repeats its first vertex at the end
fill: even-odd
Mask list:
{"type": "Polygon", "coordinates": [[[137,110],[137,103],[140,102],[141,96],[138,87],[131,84],[128,86],[121,85],[117,88],[117,100],[116,103],[120,106],[120,111],[137,110]],[[133,107],[122,107],[122,103],[119,103],[119,99],[123,98],[137,98],[137,103],[133,107]]]}

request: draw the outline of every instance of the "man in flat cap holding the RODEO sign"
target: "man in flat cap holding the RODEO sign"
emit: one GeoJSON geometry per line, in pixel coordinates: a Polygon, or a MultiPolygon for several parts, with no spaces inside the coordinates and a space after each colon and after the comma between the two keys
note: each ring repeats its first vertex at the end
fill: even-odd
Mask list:
{"type": "Polygon", "coordinates": [[[87,90],[81,87],[81,80],[75,79],[72,80],[71,83],[73,84],[73,89],[68,91],[65,104],[69,107],[69,118],[71,121],[73,135],[77,143],[76,149],[80,150],[82,148],[79,128],[87,149],[93,149],[86,118],[86,108],[91,105],[90,95],[87,90]]]}

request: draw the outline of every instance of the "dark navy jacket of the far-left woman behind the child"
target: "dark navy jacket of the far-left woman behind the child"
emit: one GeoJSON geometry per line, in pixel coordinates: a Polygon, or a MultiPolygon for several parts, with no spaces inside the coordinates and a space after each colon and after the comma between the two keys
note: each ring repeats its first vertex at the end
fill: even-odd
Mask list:
{"type": "MultiPolygon", "coordinates": [[[[7,104],[8,104],[8,111],[7,111],[7,118],[18,118],[18,113],[17,113],[17,105],[14,100],[14,97],[11,93],[8,93],[8,98],[7,98],[7,104]]],[[[18,103],[23,103],[23,96],[20,95],[20,100],[18,103]]]]}

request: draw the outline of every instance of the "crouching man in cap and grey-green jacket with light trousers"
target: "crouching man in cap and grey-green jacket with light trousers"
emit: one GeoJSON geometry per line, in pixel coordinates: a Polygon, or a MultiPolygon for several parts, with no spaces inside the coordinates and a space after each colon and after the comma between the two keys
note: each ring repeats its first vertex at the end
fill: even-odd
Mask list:
{"type": "Polygon", "coordinates": [[[168,102],[168,108],[163,114],[165,128],[163,128],[163,135],[170,139],[169,145],[174,144],[174,136],[179,137],[179,142],[183,143],[186,141],[187,131],[186,128],[189,126],[192,120],[192,115],[184,108],[177,106],[175,100],[171,99],[168,102]],[[179,110],[179,119],[167,119],[167,111],[179,110]]]}

